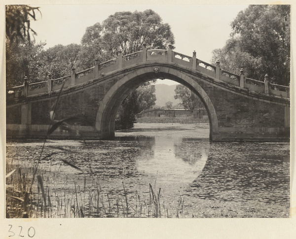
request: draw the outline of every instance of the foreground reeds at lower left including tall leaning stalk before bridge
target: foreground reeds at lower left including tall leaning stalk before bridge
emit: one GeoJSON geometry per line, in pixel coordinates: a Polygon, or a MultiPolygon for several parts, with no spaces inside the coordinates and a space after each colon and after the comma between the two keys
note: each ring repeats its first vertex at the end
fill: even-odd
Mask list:
{"type": "MultiPolygon", "coordinates": [[[[13,159],[10,163],[6,161],[6,217],[173,217],[174,215],[169,213],[169,206],[165,205],[161,197],[161,188],[156,190],[155,193],[151,184],[149,184],[148,198],[145,198],[140,197],[139,194],[129,194],[122,182],[122,196],[122,193],[104,192],[98,177],[94,176],[90,164],[88,164],[90,171],[88,175],[68,159],[59,159],[61,160],[60,165],[47,171],[40,168],[42,161],[54,160],[54,156],[63,151],[72,152],[59,146],[49,146],[50,149],[53,149],[53,152],[44,153],[46,140],[50,134],[59,126],[67,129],[66,121],[73,118],[55,120],[62,89],[50,111],[52,124],[49,126],[47,136],[32,165],[27,167],[27,171],[23,171],[21,166],[13,169],[13,159]],[[68,175],[65,179],[61,169],[62,164],[84,173],[80,185],[79,182],[68,181],[68,175]],[[35,184],[35,181],[37,181],[37,184],[35,184]],[[50,185],[55,185],[61,181],[64,182],[61,188],[50,190],[50,185]],[[80,190],[80,186],[83,190],[80,190]],[[163,206],[161,207],[161,205],[163,206]]],[[[86,142],[84,141],[84,143],[86,142]]],[[[177,204],[176,217],[183,215],[183,205],[184,199],[180,198],[177,204]]]]}

